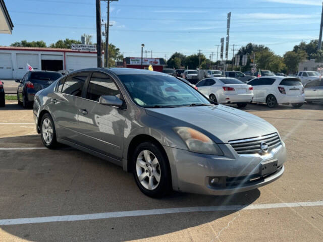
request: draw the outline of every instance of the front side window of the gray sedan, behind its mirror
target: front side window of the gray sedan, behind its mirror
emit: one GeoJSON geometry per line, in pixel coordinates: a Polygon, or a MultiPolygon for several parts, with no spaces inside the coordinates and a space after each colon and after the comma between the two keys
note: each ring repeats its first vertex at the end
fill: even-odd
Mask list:
{"type": "Polygon", "coordinates": [[[94,72],[87,88],[86,98],[98,102],[100,96],[117,96],[120,98],[120,91],[110,76],[94,72]]]}

